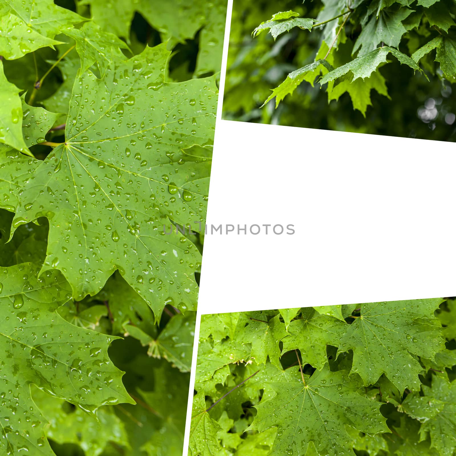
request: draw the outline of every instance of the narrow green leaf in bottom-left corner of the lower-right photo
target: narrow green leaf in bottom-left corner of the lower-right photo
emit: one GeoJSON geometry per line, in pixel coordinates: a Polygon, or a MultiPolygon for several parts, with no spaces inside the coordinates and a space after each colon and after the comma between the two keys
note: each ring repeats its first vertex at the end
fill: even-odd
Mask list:
{"type": "Polygon", "coordinates": [[[213,456],[221,449],[217,433],[222,427],[211,418],[206,409],[204,393],[200,392],[193,398],[189,456],[213,456]]]}

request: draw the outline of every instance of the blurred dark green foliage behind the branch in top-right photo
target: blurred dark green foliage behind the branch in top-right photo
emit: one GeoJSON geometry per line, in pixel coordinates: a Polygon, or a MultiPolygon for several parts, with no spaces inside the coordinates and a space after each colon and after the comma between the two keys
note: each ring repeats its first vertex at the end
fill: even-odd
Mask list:
{"type": "MultiPolygon", "coordinates": [[[[391,99],[372,90],[372,106],[365,118],[353,109],[348,93],[328,104],[326,89],[318,83],[315,87],[302,83],[277,109],[274,101],[260,108],[288,73],[313,61],[321,34],[294,28],[274,41],[269,33],[253,38],[252,31],[278,11],[294,10],[303,17],[316,18],[321,6],[319,0],[304,4],[296,0],[233,0],[223,119],[455,141],[455,86],[441,76],[440,69],[433,75],[424,67],[428,82],[423,74],[414,74],[394,58],[379,70],[391,99]]],[[[352,33],[356,36],[356,29],[352,33]]],[[[399,50],[410,55],[408,38],[406,33],[399,50]]],[[[435,58],[435,50],[430,58],[435,58]]]]}

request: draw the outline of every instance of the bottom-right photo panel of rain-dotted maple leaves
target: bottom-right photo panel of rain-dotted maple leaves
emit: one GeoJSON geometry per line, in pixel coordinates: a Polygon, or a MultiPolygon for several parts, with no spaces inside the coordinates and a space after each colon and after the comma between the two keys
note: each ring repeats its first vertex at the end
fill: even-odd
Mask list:
{"type": "Polygon", "coordinates": [[[203,315],[189,455],[452,456],[455,303],[203,315]]]}

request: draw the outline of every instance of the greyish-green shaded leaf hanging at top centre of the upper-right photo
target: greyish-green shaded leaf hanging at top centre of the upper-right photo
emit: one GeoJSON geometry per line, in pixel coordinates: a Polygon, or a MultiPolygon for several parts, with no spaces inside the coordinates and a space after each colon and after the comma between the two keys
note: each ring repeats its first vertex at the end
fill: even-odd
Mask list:
{"type": "Polygon", "coordinates": [[[387,46],[399,47],[400,40],[407,31],[402,24],[413,10],[405,7],[382,9],[378,16],[373,15],[363,26],[361,33],[353,45],[352,54],[358,51],[363,56],[373,51],[381,42],[387,46]]]}

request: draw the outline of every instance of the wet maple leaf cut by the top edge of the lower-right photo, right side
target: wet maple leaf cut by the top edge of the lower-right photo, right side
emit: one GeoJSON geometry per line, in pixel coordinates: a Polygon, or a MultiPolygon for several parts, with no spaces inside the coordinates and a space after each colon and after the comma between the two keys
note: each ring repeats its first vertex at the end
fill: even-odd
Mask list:
{"type": "Polygon", "coordinates": [[[384,373],[402,392],[420,388],[422,368],[414,356],[433,359],[444,348],[434,319],[440,299],[389,301],[361,305],[361,316],[340,338],[339,351],[353,350],[352,373],[365,385],[384,373]]]}

